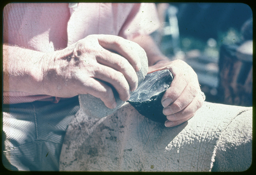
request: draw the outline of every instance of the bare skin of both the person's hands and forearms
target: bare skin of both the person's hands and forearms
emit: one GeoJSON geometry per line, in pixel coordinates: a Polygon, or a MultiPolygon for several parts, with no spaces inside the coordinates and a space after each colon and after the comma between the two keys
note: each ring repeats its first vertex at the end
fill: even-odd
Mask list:
{"type": "Polygon", "coordinates": [[[4,44],[4,91],[66,98],[91,94],[108,108],[115,108],[113,92],[102,81],[112,84],[120,99],[128,100],[138,86],[136,72],[141,63],[136,53],[142,49],[147,53],[148,73],[169,69],[174,76],[162,99],[165,126],[187,121],[204,101],[198,93],[196,73],[184,61],[165,57],[150,36],[136,36],[128,41],[119,36],[91,35],[48,53],[4,44]]]}

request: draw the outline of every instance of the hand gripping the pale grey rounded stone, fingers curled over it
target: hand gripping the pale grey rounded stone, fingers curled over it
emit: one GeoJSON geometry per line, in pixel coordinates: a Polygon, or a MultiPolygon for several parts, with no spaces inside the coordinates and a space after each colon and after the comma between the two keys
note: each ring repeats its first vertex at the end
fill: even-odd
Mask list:
{"type": "Polygon", "coordinates": [[[116,107],[111,84],[119,98],[127,101],[138,86],[136,72],[141,68],[139,44],[119,36],[90,35],[56,51],[44,61],[45,94],[73,97],[91,94],[109,108],[116,107]]]}

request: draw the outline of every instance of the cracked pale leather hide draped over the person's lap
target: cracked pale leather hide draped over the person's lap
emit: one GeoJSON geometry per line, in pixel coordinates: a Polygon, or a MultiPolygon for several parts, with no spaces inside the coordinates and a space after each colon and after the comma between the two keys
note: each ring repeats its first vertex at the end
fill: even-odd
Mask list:
{"type": "Polygon", "coordinates": [[[244,171],[252,163],[252,107],[204,102],[187,122],[166,128],[125,103],[70,123],[60,171],[244,171]]]}

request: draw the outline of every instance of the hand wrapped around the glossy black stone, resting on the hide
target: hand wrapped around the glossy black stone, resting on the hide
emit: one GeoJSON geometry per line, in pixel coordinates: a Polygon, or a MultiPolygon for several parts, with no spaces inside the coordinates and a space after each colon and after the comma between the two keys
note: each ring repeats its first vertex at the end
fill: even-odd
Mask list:
{"type": "Polygon", "coordinates": [[[195,71],[184,61],[167,62],[154,71],[164,69],[169,69],[173,75],[172,83],[162,98],[163,113],[167,118],[165,126],[173,127],[193,117],[202,107],[205,96],[195,71]]]}

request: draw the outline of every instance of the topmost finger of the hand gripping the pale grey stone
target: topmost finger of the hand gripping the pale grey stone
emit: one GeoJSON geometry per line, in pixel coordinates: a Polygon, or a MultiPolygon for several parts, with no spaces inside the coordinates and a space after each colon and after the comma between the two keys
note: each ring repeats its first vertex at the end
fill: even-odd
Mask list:
{"type": "Polygon", "coordinates": [[[145,51],[139,44],[113,35],[100,35],[98,41],[103,48],[114,51],[126,58],[136,72],[140,70],[141,63],[137,52],[145,51]]]}

